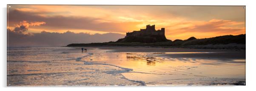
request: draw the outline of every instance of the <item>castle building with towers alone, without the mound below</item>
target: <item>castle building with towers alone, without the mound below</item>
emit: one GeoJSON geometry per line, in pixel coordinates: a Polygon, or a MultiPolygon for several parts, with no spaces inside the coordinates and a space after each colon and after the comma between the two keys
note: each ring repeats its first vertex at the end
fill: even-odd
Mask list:
{"type": "Polygon", "coordinates": [[[155,25],[150,26],[149,24],[146,26],[146,29],[140,29],[140,31],[126,32],[125,37],[147,36],[147,35],[165,36],[165,28],[161,28],[161,30],[156,30],[155,25]]]}

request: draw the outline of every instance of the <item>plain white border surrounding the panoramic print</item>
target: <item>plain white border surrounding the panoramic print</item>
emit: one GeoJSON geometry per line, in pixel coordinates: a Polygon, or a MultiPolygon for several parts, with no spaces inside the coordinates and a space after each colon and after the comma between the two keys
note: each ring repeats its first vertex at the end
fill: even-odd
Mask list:
{"type": "Polygon", "coordinates": [[[256,26],[253,22],[256,21],[256,13],[255,13],[255,1],[253,0],[2,0],[1,1],[1,83],[0,86],[1,90],[64,90],[64,91],[74,91],[74,90],[124,90],[124,91],[131,91],[131,90],[150,90],[150,91],[159,91],[159,90],[207,90],[207,91],[244,91],[244,90],[255,90],[255,63],[256,60],[254,58],[255,53],[255,40],[256,40],[256,26]],[[7,54],[7,4],[60,4],[60,5],[246,5],[246,86],[151,86],[151,87],[134,87],[131,86],[110,86],[110,87],[6,87],[6,54],[7,54]],[[40,88],[40,89],[38,89],[40,88]]]}

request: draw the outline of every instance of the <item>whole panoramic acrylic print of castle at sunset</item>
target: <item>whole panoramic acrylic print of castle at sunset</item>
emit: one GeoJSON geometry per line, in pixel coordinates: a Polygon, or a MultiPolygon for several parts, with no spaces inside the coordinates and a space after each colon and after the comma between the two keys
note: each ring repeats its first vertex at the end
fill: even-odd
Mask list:
{"type": "Polygon", "coordinates": [[[7,86],[245,82],[245,6],[7,5],[7,86]]]}

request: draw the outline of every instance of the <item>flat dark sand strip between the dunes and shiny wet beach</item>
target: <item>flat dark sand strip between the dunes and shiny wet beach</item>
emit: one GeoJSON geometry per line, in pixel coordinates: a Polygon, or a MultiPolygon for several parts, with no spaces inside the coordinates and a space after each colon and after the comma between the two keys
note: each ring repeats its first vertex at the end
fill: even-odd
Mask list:
{"type": "Polygon", "coordinates": [[[101,48],[111,50],[109,52],[155,52],[159,56],[172,58],[200,58],[200,59],[245,59],[245,50],[230,49],[196,49],[196,48],[145,48],[145,47],[126,47],[126,48],[101,48]],[[177,52],[180,54],[168,54],[169,52],[177,52]],[[188,53],[192,54],[188,54],[188,53]],[[194,53],[193,52],[205,52],[194,53]]]}

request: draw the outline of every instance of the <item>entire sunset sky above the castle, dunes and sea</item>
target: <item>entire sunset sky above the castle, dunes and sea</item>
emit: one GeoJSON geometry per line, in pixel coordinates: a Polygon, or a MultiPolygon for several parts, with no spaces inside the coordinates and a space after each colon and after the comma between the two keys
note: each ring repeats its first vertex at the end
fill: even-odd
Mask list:
{"type": "Polygon", "coordinates": [[[19,46],[116,41],[147,24],[169,40],[245,34],[245,6],[9,5],[7,13],[9,44],[19,46]]]}

